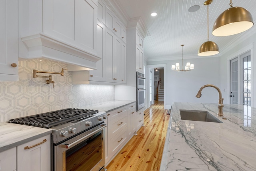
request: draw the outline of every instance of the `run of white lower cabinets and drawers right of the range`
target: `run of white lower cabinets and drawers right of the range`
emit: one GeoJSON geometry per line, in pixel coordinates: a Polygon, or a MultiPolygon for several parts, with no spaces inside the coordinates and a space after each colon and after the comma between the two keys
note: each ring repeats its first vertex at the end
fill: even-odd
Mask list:
{"type": "Polygon", "coordinates": [[[143,125],[143,109],[138,112],[136,103],[131,103],[106,114],[106,165],[143,125]]]}

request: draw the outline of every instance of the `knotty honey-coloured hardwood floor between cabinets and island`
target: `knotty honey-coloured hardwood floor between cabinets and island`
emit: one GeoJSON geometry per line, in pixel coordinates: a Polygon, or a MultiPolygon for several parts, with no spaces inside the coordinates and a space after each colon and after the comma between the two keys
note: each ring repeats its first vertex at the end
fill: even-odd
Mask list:
{"type": "Polygon", "coordinates": [[[144,111],[144,126],[108,164],[108,171],[159,171],[170,115],[164,101],[144,111]]]}

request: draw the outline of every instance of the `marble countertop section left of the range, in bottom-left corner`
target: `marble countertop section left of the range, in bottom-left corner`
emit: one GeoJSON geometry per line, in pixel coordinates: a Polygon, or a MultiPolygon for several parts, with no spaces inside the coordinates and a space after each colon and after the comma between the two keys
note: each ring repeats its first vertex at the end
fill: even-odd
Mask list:
{"type": "Polygon", "coordinates": [[[15,123],[0,123],[0,152],[49,135],[52,129],[32,127],[15,123]]]}

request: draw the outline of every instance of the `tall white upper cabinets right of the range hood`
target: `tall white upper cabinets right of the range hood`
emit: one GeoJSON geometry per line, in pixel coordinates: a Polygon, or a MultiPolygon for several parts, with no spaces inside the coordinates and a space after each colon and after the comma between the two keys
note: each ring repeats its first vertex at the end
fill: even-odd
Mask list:
{"type": "Polygon", "coordinates": [[[96,70],[68,65],[73,84],[126,84],[126,28],[102,0],[98,0],[96,70]]]}

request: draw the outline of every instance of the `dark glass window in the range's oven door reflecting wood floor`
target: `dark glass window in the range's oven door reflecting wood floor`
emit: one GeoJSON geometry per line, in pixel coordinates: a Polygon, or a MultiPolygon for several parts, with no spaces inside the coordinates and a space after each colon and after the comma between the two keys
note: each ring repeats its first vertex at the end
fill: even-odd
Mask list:
{"type": "Polygon", "coordinates": [[[102,160],[102,131],[66,151],[66,171],[90,171],[102,160]]]}

